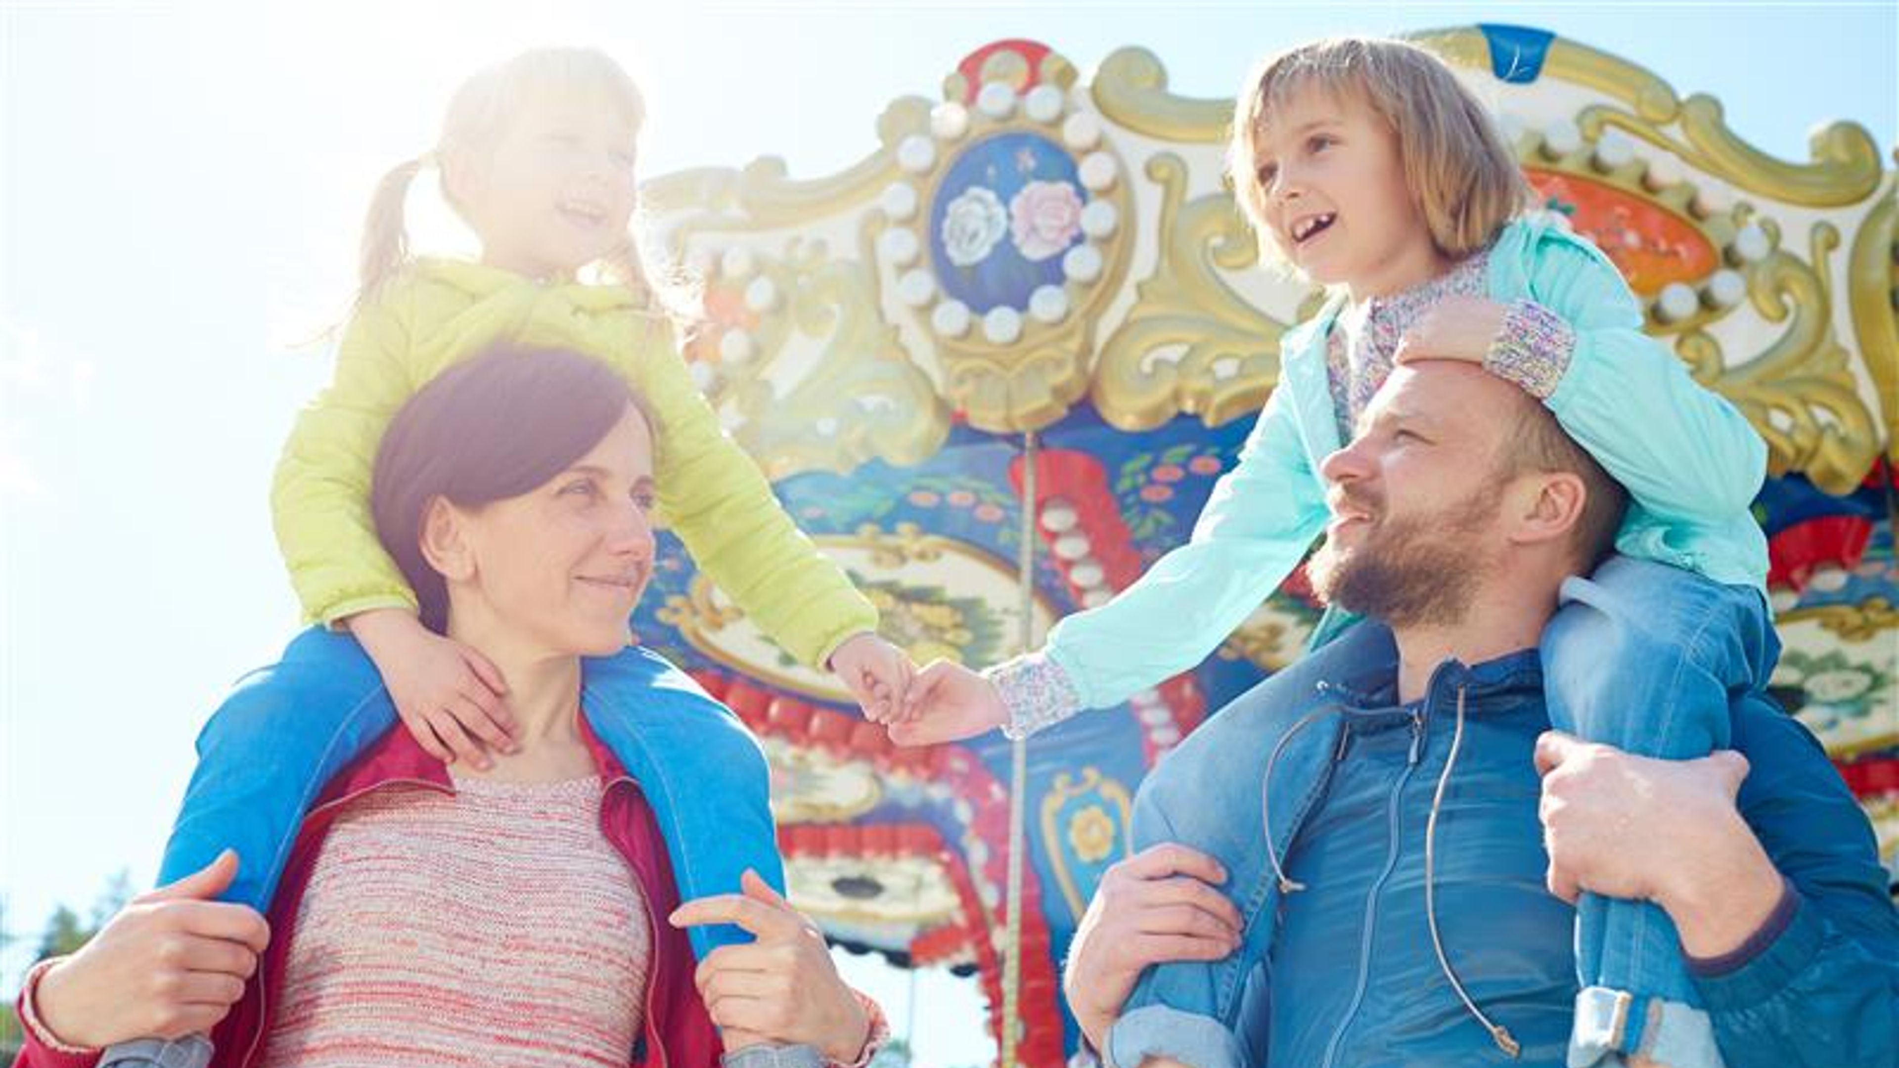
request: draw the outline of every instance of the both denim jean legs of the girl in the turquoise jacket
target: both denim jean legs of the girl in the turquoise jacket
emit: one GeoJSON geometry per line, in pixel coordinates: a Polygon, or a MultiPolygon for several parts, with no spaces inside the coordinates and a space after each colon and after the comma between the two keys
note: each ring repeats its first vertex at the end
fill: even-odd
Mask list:
{"type": "MultiPolygon", "coordinates": [[[[1779,642],[1766,601],[1753,587],[1715,583],[1694,572],[1610,557],[1589,578],[1563,583],[1563,606],[1544,629],[1544,690],[1551,724],[1643,756],[1690,758],[1728,747],[1730,703],[1766,686],[1779,642]]],[[[1134,848],[1179,842],[1213,855],[1229,872],[1221,889],[1248,918],[1246,948],[1225,962],[1174,962],[1141,973],[1122,1007],[1109,1055],[1136,1068],[1145,1053],[1166,1053],[1196,1068],[1259,1064],[1265,1058],[1263,1000],[1270,990],[1270,944],[1278,884],[1261,846],[1270,815],[1272,844],[1289,848],[1301,806],[1293,785],[1318,783],[1329,758],[1324,726],[1288,735],[1320,686],[1375,692],[1396,678],[1384,627],[1352,625],[1335,640],[1272,675],[1210,716],[1149,777],[1134,804],[1134,848]],[[1261,775],[1274,766],[1270,813],[1261,811],[1261,775]],[[1139,1017],[1136,1017],[1139,1013],[1139,1017]]],[[[1650,1053],[1684,1066],[1719,1064],[1713,1030],[1681,958],[1673,924],[1658,906],[1586,895],[1576,927],[1578,979],[1586,990],[1629,994],[1614,1003],[1614,1030],[1595,1032],[1603,1049],[1572,1041],[1572,1062],[1650,1053]],[[1664,1043],[1643,1047],[1646,1001],[1688,1009],[1664,1019],[1664,1043]],[[1696,1020],[1694,1017],[1700,1017],[1696,1020]],[[1589,1060],[1582,1057],[1595,1053],[1589,1060]]],[[[1582,1007],[1582,1001],[1578,1003],[1582,1007]]],[[[1605,1020],[1607,1022],[1607,1020],[1605,1020]]],[[[1582,1028],[1578,1028],[1582,1030],[1582,1028]]]]}

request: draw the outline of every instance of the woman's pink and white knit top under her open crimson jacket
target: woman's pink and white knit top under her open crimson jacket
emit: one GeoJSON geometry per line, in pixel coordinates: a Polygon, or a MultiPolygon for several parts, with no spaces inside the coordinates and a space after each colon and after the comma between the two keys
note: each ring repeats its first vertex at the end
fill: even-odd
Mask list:
{"type": "Polygon", "coordinates": [[[651,952],[602,792],[458,779],[349,802],[296,912],[264,1068],[625,1068],[651,952]]]}

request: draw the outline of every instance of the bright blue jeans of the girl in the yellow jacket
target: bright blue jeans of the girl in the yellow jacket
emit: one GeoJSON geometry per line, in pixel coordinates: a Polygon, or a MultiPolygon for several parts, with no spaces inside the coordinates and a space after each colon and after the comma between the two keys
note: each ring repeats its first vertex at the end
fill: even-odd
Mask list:
{"type": "MultiPolygon", "coordinates": [[[[583,659],[581,709],[640,783],[682,901],[739,893],[746,868],[784,891],[769,768],[731,711],[642,648],[583,659]]],[[[165,846],[160,886],[232,848],[237,878],[222,901],[268,912],[310,806],[397,724],[382,677],[355,639],[321,627],[298,635],[277,665],[239,680],[197,735],[197,768],[165,846]]],[[[724,924],[693,927],[689,939],[703,960],[752,935],[724,924]]],[[[169,1064],[152,1051],[135,1057],[131,1045],[116,1047],[104,1064],[169,1064]]]]}

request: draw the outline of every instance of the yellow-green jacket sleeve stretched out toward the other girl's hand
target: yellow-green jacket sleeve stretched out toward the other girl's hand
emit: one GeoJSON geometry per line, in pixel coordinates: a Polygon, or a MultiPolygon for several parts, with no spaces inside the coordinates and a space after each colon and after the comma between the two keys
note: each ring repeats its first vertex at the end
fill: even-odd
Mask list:
{"type": "Polygon", "coordinates": [[[636,359],[659,420],[659,505],[693,563],[784,652],[822,669],[877,610],[784,513],[758,464],[720,428],[686,361],[657,338],[636,359]]]}

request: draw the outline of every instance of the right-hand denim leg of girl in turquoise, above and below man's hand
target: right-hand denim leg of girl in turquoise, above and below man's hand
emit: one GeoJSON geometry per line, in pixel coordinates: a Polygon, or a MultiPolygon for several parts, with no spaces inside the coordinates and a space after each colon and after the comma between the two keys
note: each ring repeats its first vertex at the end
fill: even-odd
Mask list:
{"type": "MultiPolygon", "coordinates": [[[[1563,583],[1563,608],[1542,639],[1550,722],[1641,756],[1688,760],[1730,745],[1730,701],[1766,684],[1779,642],[1757,589],[1694,572],[1610,557],[1563,583]]],[[[1675,924],[1658,905],[1584,893],[1576,905],[1582,1045],[1643,1049],[1650,1001],[1700,1007],[1675,924]]],[[[1681,1013],[1705,1032],[1667,1041],[1673,1064],[1719,1064],[1705,1013],[1681,1013]],[[1705,1041],[1703,1041],[1705,1038],[1705,1041]]],[[[1669,1036],[1650,1036],[1654,1041],[1669,1036]]],[[[1589,1049],[1572,1045],[1572,1064],[1589,1049]]],[[[1662,1058],[1662,1057],[1658,1057],[1662,1058]]]]}

